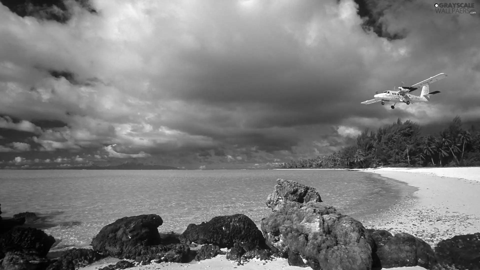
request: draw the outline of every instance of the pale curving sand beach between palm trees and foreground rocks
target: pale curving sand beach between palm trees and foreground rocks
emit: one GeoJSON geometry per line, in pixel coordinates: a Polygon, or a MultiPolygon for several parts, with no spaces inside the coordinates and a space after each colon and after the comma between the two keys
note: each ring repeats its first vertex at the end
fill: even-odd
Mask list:
{"type": "Polygon", "coordinates": [[[410,233],[432,246],[458,234],[480,232],[480,167],[362,170],[417,188],[366,228],[410,233]],[[444,170],[442,170],[444,169],[444,170]],[[456,177],[447,177],[455,175],[456,177]]]}

